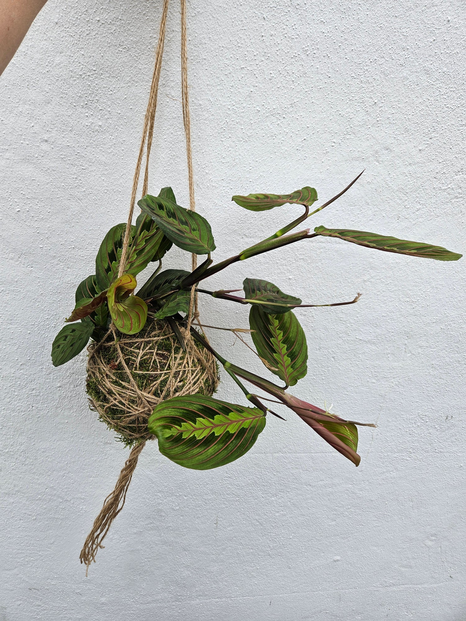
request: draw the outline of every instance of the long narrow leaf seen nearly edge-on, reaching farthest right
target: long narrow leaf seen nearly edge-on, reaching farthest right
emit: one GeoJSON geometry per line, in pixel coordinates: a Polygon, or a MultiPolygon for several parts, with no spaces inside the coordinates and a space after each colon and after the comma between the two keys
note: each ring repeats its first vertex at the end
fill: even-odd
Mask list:
{"type": "Polygon", "coordinates": [[[337,237],[345,242],[367,246],[367,248],[395,252],[400,255],[421,256],[425,259],[437,259],[437,261],[457,261],[463,256],[456,252],[450,252],[441,246],[432,246],[429,243],[421,242],[408,242],[396,237],[387,237],[386,235],[377,235],[377,233],[367,233],[365,231],[316,227],[314,232],[324,235],[324,237],[337,237]]]}

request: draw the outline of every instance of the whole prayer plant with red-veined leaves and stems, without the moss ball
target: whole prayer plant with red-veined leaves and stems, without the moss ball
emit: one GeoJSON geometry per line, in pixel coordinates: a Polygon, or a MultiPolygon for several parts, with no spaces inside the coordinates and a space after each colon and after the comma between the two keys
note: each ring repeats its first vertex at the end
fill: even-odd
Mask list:
{"type": "Polygon", "coordinates": [[[263,403],[273,400],[296,412],[326,442],[356,466],[359,465],[356,425],[362,423],[344,420],[287,392],[289,386],[294,386],[306,375],[308,359],[306,336],[293,309],[354,304],[359,294],[349,302],[320,305],[302,304],[298,297],[257,278],[244,280],[244,297],[235,295],[239,289],[209,291],[200,286],[209,276],[237,261],[319,236],[334,237],[375,250],[439,261],[456,261],[462,256],[427,243],[408,242],[357,230],[318,226],[312,233],[310,229],[290,233],[304,220],[344,194],[359,176],[337,196],[311,213],[309,207],[318,200],[318,195],[314,188],[307,186],[291,194],[233,196],[235,203],[251,211],[267,211],[291,203],[302,206],[304,212],[267,239],[219,263],[213,263],[211,259],[211,253],[216,247],[211,227],[203,216],[178,206],[171,188],[163,188],[158,196],[147,194],[138,202],[142,213],[131,229],[130,250],[122,276],[118,276],[118,272],[126,225],[117,224],[101,243],[96,257],[96,273],[88,276],[76,289],[75,309],[53,341],[53,365],[63,365],[71,360],[83,350],[89,338],[99,342],[106,335],[111,322],[124,334],[136,334],[144,327],[148,315],[153,319],[167,320],[180,340],[181,347],[185,347],[180,326],[186,328],[190,325],[187,315],[194,286],[196,292],[205,296],[249,304],[250,330],[244,332],[250,331],[260,360],[285,385],[278,386],[227,361],[211,347],[203,333],[190,325],[191,337],[211,351],[253,407],[228,404],[200,394],[174,397],[161,402],[153,410],[148,428],[157,437],[163,455],[180,465],[196,469],[215,468],[229,463],[244,455],[254,444],[265,427],[267,412],[278,416],[263,403]],[[172,244],[188,253],[206,255],[206,260],[191,273],[174,269],[160,271],[162,259],[172,244]],[[157,270],[135,295],[135,277],[153,261],[158,261],[157,270]],[[250,393],[241,380],[246,380],[273,399],[250,393]]]}

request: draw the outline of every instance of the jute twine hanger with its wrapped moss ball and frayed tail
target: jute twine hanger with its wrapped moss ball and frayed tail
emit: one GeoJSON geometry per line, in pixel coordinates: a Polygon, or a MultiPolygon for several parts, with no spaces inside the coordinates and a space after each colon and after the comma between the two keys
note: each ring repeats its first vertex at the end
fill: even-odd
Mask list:
{"type": "MultiPolygon", "coordinates": [[[[188,160],[188,183],[190,189],[190,209],[194,211],[194,175],[191,154],[191,124],[188,93],[188,57],[186,34],[186,0],[181,1],[181,93],[183,104],[183,124],[185,126],[186,156],[188,160]]],[[[144,183],[142,196],[147,194],[148,161],[152,147],[153,125],[157,109],[158,82],[162,68],[165,28],[167,25],[168,0],[163,1],[162,19],[155,52],[155,66],[150,86],[149,101],[144,117],[144,127],[139,155],[134,173],[130,209],[123,240],[119,276],[124,273],[129,251],[130,230],[139,185],[140,168],[145,157],[144,183]],[[146,147],[147,143],[147,147],[146,147]]],[[[196,255],[191,255],[193,270],[196,268],[196,255]]],[[[86,538],[81,550],[81,563],[95,562],[99,548],[109,531],[112,521],[122,510],[126,493],[131,482],[137,460],[145,443],[150,439],[147,420],[160,401],[186,394],[212,394],[217,387],[217,366],[207,350],[199,350],[191,338],[190,327],[198,320],[198,300],[195,288],[191,289],[190,309],[186,330],[180,327],[185,339],[186,350],[179,346],[175,335],[166,322],[148,320],[145,329],[138,335],[126,337],[117,332],[114,326],[106,337],[89,347],[88,391],[91,407],[99,417],[115,429],[127,444],[134,444],[129,458],[120,473],[114,490],[106,497],[101,512],[86,538]],[[167,347],[168,343],[168,347],[167,347]],[[93,386],[94,392],[89,390],[93,386]]],[[[205,336],[205,335],[204,335],[205,336]]]]}

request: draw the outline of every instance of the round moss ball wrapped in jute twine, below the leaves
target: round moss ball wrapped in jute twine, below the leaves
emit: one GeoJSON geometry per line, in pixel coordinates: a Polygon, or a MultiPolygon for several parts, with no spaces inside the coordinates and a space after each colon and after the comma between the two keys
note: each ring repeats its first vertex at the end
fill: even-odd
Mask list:
{"type": "Polygon", "coordinates": [[[148,417],[160,401],[186,394],[211,396],[216,360],[192,338],[186,351],[164,320],[148,319],[135,335],[109,332],[89,346],[89,407],[127,446],[148,440],[148,417]]]}

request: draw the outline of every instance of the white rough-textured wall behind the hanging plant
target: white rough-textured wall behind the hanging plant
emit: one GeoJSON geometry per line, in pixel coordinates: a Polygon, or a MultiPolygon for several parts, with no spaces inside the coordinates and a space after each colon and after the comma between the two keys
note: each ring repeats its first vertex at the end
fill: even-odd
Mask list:
{"type": "MultiPolygon", "coordinates": [[[[355,420],[359,468],[306,425],[268,420],[224,468],[147,446],[106,549],[78,556],[127,456],[84,392],[85,355],[50,344],[126,219],[160,0],[50,0],[0,79],[3,256],[1,621],[462,621],[466,618],[466,260],[319,238],[230,268],[307,302],[309,373],[295,393],[355,420]]],[[[465,7],[460,0],[191,0],[198,211],[225,258],[295,217],[232,194],[313,185],[313,225],[466,250],[465,7]]],[[[170,9],[150,191],[187,204],[179,7],[170,9]]],[[[172,266],[187,266],[181,252],[172,266]]],[[[167,266],[167,263],[165,264],[167,266]]],[[[247,309],[203,301],[209,324],[247,309]]],[[[232,338],[212,341],[255,360],[232,338]]],[[[228,378],[219,395],[242,396],[228,378]]]]}

